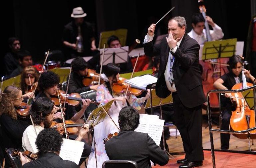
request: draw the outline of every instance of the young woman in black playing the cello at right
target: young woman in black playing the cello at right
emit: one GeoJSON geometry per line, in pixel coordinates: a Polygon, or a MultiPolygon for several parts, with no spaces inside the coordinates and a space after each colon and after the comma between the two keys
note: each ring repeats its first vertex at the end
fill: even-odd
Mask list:
{"type": "MultiPolygon", "coordinates": [[[[246,76],[246,82],[252,83],[254,77],[250,74],[250,71],[243,68],[243,61],[239,55],[233,55],[229,59],[229,68],[231,71],[229,73],[221,76],[217,79],[213,86],[217,89],[231,89],[233,85],[242,83],[242,73],[246,76]]],[[[221,111],[222,111],[222,124],[221,130],[229,130],[230,117],[232,115],[232,102],[230,100],[231,93],[225,93],[221,96],[221,111]]],[[[229,148],[230,134],[220,134],[221,149],[229,148]]]]}

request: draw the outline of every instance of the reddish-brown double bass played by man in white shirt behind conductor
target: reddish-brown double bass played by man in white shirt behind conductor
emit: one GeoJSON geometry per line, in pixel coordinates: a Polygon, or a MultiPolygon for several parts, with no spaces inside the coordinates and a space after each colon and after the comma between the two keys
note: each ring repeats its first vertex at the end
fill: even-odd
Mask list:
{"type": "MultiPolygon", "coordinates": [[[[210,29],[208,22],[206,20],[206,8],[202,4],[203,0],[199,0],[198,3],[199,11],[202,13],[203,18],[205,20],[204,26],[206,31],[206,39],[207,41],[212,41],[210,35],[210,29]]],[[[202,84],[203,84],[203,92],[205,97],[207,96],[208,91],[214,90],[215,87],[213,83],[222,75],[228,73],[227,63],[229,58],[219,58],[219,59],[211,59],[211,60],[199,60],[200,66],[202,68],[202,84]]],[[[219,108],[219,96],[217,93],[212,93],[210,95],[210,107],[211,108],[219,108]]],[[[204,103],[206,106],[206,103],[204,103]]]]}

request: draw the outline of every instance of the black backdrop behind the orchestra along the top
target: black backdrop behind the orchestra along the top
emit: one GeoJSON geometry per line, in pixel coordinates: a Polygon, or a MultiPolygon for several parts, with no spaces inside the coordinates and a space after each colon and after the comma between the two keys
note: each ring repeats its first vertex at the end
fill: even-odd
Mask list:
{"type": "MultiPolygon", "coordinates": [[[[5,4],[1,5],[0,75],[4,74],[3,57],[9,50],[9,37],[19,37],[21,47],[32,53],[34,63],[42,62],[44,53],[49,48],[62,49],[64,25],[72,20],[72,9],[78,6],[87,13],[85,20],[94,25],[96,38],[101,31],[127,28],[127,45],[133,44],[136,38],[143,42],[149,25],[155,23],[173,6],[175,9],[157,25],[158,33],[167,33],[168,20],[173,16],[185,17],[189,32],[191,16],[198,12],[197,0],[158,0],[154,3],[144,0],[9,0],[5,4]]],[[[222,28],[223,39],[237,38],[238,41],[245,41],[245,48],[251,20],[251,1],[205,0],[204,4],[206,14],[222,28]]]]}

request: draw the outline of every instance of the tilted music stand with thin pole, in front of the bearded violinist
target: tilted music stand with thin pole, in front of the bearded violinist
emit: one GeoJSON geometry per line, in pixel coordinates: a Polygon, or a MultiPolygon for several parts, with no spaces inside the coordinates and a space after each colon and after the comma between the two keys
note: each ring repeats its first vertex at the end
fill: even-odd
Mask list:
{"type": "MultiPolygon", "coordinates": [[[[96,155],[96,142],[95,142],[95,136],[94,136],[94,127],[95,125],[97,125],[99,122],[101,122],[106,115],[108,115],[107,111],[110,109],[112,103],[114,102],[114,100],[109,101],[107,104],[105,104],[104,106],[100,106],[96,109],[94,109],[90,115],[87,118],[87,122],[90,125],[90,131],[92,133],[92,137],[93,137],[93,144],[94,144],[94,154],[95,154],[95,161],[96,161],[96,168],[98,167],[97,165],[97,155],[96,155]]],[[[109,115],[108,115],[109,116],[109,115]]],[[[110,117],[110,116],[109,116],[110,117]]],[[[111,118],[111,117],[110,117],[111,118]]],[[[112,120],[112,118],[111,118],[112,120]]],[[[112,120],[113,121],[113,120],[112,120]]]]}

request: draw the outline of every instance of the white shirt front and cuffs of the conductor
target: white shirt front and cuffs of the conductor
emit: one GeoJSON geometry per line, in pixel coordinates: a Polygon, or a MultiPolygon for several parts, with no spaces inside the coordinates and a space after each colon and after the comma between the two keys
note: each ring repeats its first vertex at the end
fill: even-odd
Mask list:
{"type": "MultiPolygon", "coordinates": [[[[146,35],[145,38],[144,38],[144,44],[147,43],[147,42],[152,41],[153,38],[154,38],[154,35],[146,35]]],[[[172,50],[170,49],[169,55],[168,55],[168,62],[167,62],[166,68],[165,68],[165,82],[166,82],[168,90],[170,90],[172,92],[175,92],[177,90],[176,90],[175,84],[173,83],[171,85],[171,83],[169,81],[170,76],[171,76],[171,74],[170,74],[170,61],[171,61],[171,59],[173,59],[173,55],[171,54],[171,51],[172,51],[172,53],[176,52],[177,48],[179,48],[179,46],[181,44],[181,41],[182,41],[183,37],[177,42],[177,46],[174,49],[172,49],[172,50]]]]}

